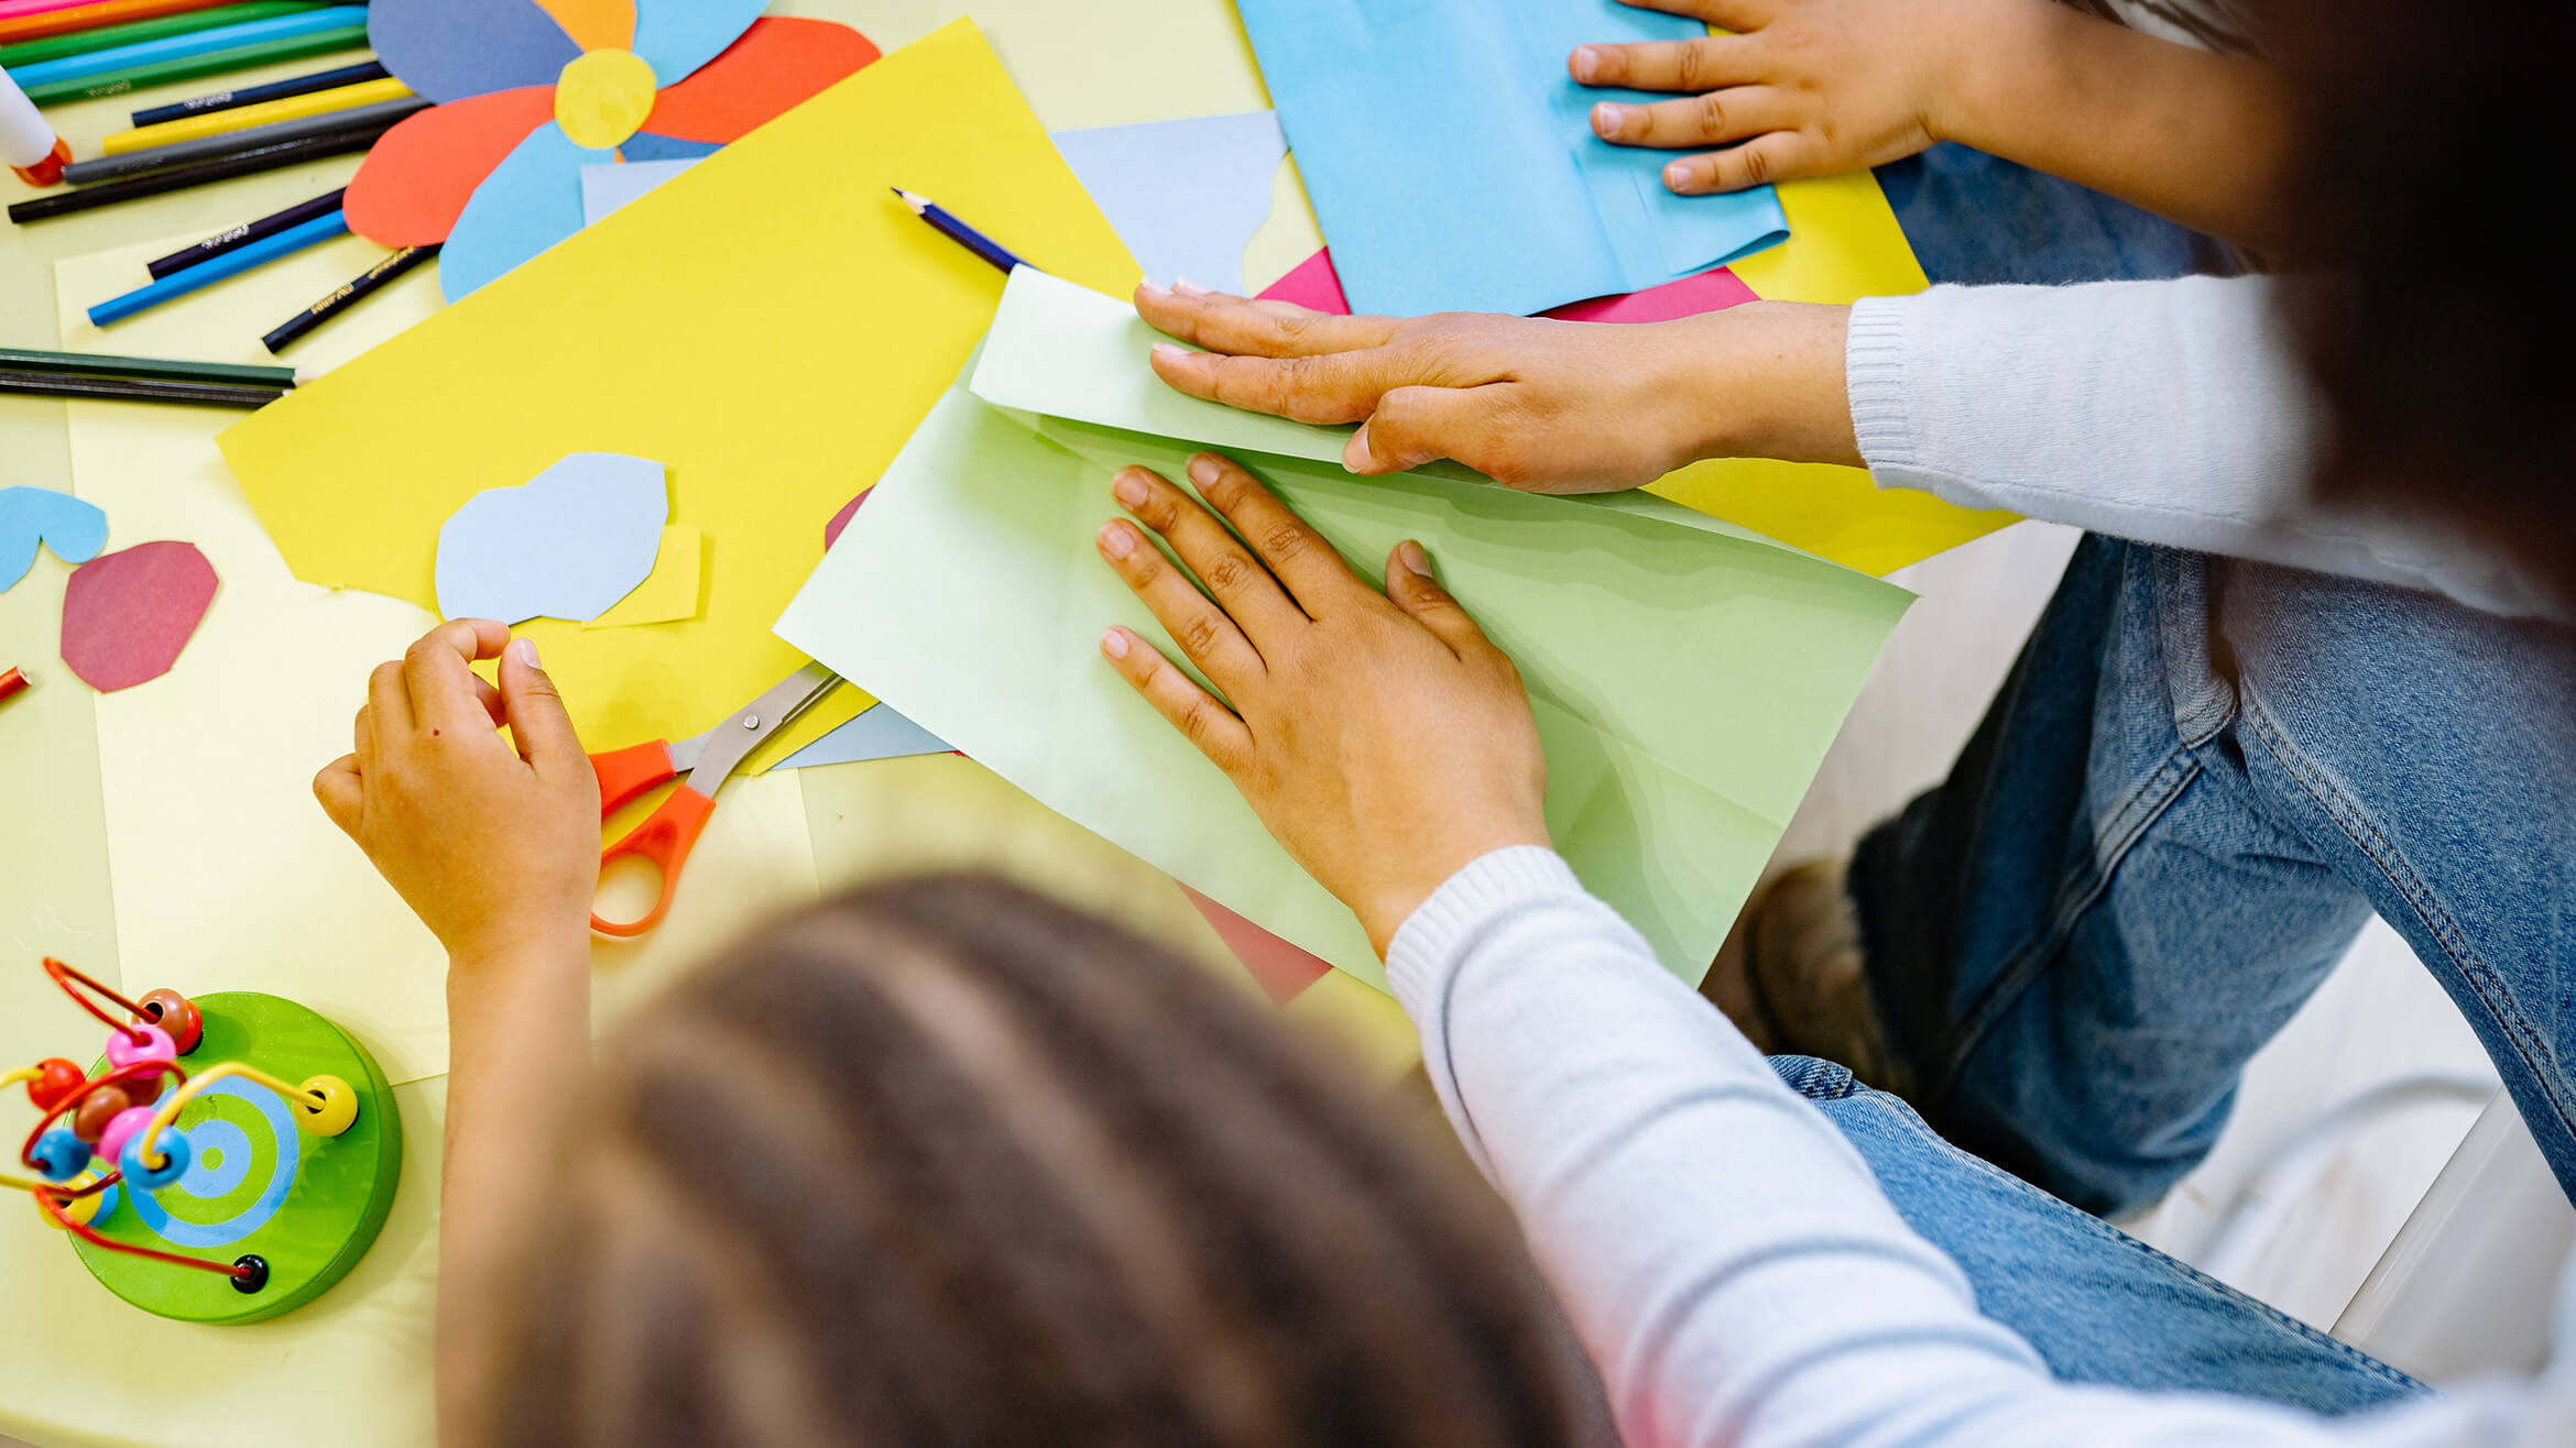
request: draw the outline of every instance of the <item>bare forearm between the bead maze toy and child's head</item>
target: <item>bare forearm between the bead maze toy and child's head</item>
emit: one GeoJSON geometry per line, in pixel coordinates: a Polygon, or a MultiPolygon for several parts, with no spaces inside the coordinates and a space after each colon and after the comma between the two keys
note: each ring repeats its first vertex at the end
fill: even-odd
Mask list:
{"type": "Polygon", "coordinates": [[[590,1069],[590,938],[564,930],[510,958],[448,964],[448,1123],[438,1198],[440,1443],[479,1443],[502,1327],[515,1317],[515,1224],[544,1211],[546,1170],[590,1069]]]}

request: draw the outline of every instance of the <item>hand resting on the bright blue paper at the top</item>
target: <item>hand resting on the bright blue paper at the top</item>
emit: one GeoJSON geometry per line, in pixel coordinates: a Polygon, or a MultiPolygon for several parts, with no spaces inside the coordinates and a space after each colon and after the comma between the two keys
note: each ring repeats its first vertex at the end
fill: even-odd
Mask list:
{"type": "Polygon", "coordinates": [[[1592,131],[1623,147],[1726,147],[1664,167],[1664,186],[1703,193],[1862,170],[1953,139],[1968,59],[2032,0],[1623,3],[1736,31],[1577,46],[1566,59],[1582,85],[1685,95],[1602,100],[1592,131]]]}

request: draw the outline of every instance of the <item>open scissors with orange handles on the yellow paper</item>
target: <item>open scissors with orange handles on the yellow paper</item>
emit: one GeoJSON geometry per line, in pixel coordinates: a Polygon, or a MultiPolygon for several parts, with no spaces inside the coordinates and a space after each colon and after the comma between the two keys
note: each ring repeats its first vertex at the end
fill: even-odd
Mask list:
{"type": "Polygon", "coordinates": [[[629,940],[644,935],[670,915],[670,897],[680,889],[680,866],[688,863],[688,850],[698,845],[698,835],[706,832],[706,817],[716,812],[716,791],[724,781],[742,768],[742,760],[752,755],[760,745],[775,737],[781,729],[796,721],[799,714],[814,706],[822,696],[840,688],[840,675],[822,667],[806,665],[770,688],[760,698],[744,703],[732,719],[716,724],[696,739],[680,739],[670,745],[654,739],[649,745],[629,745],[623,750],[608,750],[605,755],[590,755],[590,770],[600,776],[600,819],[605,822],[618,806],[631,804],[644,791],[680,781],[680,788],[670,791],[641,824],[626,832],[623,840],[600,850],[600,866],[636,855],[652,861],[662,868],[662,899],[654,902],[644,920],[600,920],[595,912],[590,928],[600,935],[616,935],[629,940]]]}

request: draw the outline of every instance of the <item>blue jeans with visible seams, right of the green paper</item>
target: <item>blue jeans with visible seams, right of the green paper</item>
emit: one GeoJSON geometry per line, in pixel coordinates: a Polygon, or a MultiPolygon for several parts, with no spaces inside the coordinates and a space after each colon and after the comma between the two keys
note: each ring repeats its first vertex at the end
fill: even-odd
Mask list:
{"type": "Polygon", "coordinates": [[[1917,1108],[2074,1206],[2190,1172],[2372,912],[2576,1188],[2571,629],[2084,538],[1850,889],[1917,1108]]]}

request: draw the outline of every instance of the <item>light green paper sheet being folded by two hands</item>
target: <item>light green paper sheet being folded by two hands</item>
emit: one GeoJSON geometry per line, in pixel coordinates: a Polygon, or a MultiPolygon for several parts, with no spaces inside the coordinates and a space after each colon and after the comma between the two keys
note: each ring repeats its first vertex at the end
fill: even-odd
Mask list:
{"type": "Polygon", "coordinates": [[[976,392],[1012,407],[953,389],[778,634],[1051,809],[1383,989],[1350,912],[1097,652],[1108,624],[1128,624],[1177,654],[1092,549],[1115,515],[1110,474],[1182,477],[1198,446],[1236,448],[1365,577],[1401,538],[1432,551],[1530,680],[1558,850],[1698,979],[1909,595],[1695,515],[1355,479],[1285,456],[1319,443],[1280,430],[1262,448],[1231,430],[1244,415],[1164,407],[1144,343],[1118,343],[1100,304],[1123,312],[1012,281],[974,371],[976,392]],[[1090,417],[1066,420],[1077,412],[1090,417]]]}

